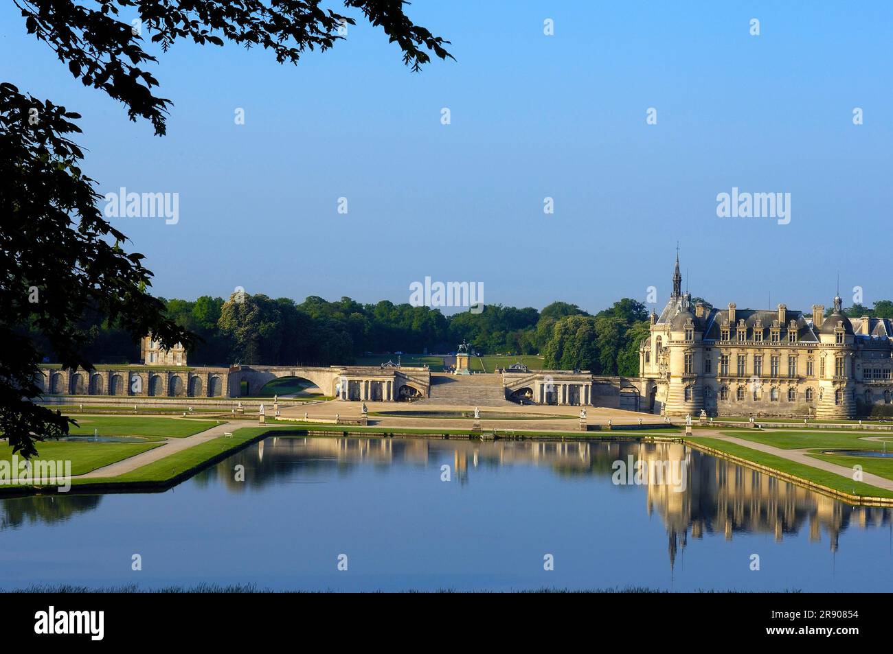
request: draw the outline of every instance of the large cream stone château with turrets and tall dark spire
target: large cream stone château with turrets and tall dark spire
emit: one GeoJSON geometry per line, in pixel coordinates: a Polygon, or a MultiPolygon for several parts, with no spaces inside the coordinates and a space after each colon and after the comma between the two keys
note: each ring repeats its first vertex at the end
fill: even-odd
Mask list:
{"type": "Polygon", "coordinates": [[[692,305],[677,255],[670,301],[660,315],[652,312],[639,346],[641,377],[655,382],[655,412],[855,418],[889,405],[891,321],[847,318],[839,297],[827,317],[823,305],[812,309],[692,305]]]}

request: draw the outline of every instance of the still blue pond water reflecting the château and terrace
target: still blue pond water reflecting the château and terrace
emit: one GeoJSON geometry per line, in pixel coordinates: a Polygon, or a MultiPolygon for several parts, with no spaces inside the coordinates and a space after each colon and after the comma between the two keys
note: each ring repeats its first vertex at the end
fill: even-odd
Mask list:
{"type": "Polygon", "coordinates": [[[0,504],[6,589],[893,590],[889,509],[673,443],[280,436],[166,493],[0,504]],[[684,462],[684,484],[614,484],[638,459],[684,462]]]}

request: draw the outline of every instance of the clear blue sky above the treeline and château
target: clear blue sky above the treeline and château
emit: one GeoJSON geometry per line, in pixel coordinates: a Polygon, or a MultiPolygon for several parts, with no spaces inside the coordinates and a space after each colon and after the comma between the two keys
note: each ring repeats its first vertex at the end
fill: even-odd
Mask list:
{"type": "Polygon", "coordinates": [[[296,67],[183,41],[152,69],[160,138],[4,3],[0,79],[83,114],[101,192],[179,193],[176,225],[114,219],[155,294],[407,302],[429,276],[488,303],[663,304],[678,240],[717,305],[830,304],[838,272],[845,303],[889,298],[893,4],[777,5],[415,0],[457,60],[419,74],[363,24],[296,67]],[[718,218],[733,186],[790,193],[790,223],[718,218]]]}

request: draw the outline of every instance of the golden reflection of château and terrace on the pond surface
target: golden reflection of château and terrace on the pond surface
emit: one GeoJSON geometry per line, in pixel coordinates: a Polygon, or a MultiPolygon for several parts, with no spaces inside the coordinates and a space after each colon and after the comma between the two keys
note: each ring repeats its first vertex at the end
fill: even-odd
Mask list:
{"type": "MultiPolygon", "coordinates": [[[[474,468],[515,465],[547,466],[560,476],[600,476],[610,481],[613,462],[634,459],[685,461],[684,490],[669,484],[644,484],[646,510],[663,520],[671,563],[689,537],[723,534],[799,534],[808,523],[813,542],[827,535],[837,551],[839,535],[847,527],[890,526],[890,509],[853,507],[844,502],[780,481],[723,459],[703,454],[681,443],[640,442],[479,442],[439,439],[271,437],[255,448],[219,464],[221,479],[233,491],[273,483],[282,475],[307,468],[362,465],[438,465],[452,460],[451,474],[461,484],[473,482],[474,468]],[[230,474],[238,463],[246,467],[246,482],[230,474]],[[221,468],[222,467],[222,468],[221,468]]],[[[210,474],[214,474],[208,471],[210,474]]]]}

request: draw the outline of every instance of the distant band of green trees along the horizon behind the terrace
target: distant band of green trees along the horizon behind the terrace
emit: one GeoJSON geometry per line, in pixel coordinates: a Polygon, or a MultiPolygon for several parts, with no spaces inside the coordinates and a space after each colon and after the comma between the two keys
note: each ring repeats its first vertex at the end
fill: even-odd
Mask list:
{"type": "MultiPolygon", "coordinates": [[[[543,310],[492,304],[478,314],[448,317],[438,309],[387,300],[361,304],[348,297],[327,302],[311,296],[297,303],[234,294],[230,300],[204,295],[164,302],[171,318],[204,339],[189,352],[188,362],[195,366],[328,366],[353,363],[367,352],[455,352],[467,341],[482,354],[541,354],[547,368],[636,376],[638,345],[648,335],[647,308],[630,298],[595,315],[552,302],[543,310]]],[[[893,317],[893,302],[874,306],[856,305],[847,314],[893,317]]],[[[138,344],[102,317],[86,319],[83,328],[85,351],[94,362],[138,361],[138,344]]],[[[46,356],[54,360],[52,352],[46,356]]]]}

